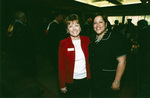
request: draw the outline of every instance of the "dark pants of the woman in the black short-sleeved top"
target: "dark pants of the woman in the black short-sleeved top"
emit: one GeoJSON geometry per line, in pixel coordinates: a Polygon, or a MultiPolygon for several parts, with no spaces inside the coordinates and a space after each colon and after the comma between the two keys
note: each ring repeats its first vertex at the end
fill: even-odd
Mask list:
{"type": "Polygon", "coordinates": [[[111,88],[115,72],[102,71],[92,78],[91,98],[118,98],[119,91],[111,88]]]}

